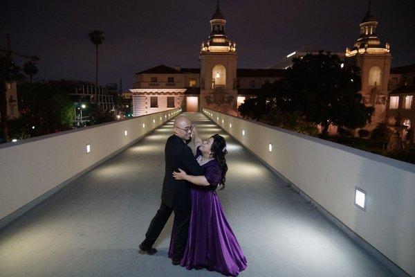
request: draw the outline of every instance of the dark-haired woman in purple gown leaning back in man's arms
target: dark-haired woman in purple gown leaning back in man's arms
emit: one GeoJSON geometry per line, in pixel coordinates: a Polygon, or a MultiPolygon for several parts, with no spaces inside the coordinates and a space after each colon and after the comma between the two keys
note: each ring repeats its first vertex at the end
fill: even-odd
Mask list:
{"type": "MultiPolygon", "coordinates": [[[[205,175],[192,176],[179,168],[173,176],[178,180],[187,180],[197,185],[191,188],[192,215],[185,254],[181,266],[186,269],[218,271],[225,276],[237,276],[246,269],[246,258],[237,238],[225,218],[225,213],[216,188],[225,188],[226,165],[225,139],[219,134],[203,142],[194,129],[196,160],[205,168],[205,175]]],[[[174,234],[170,240],[169,254],[172,251],[174,234]]],[[[170,256],[170,255],[169,255],[170,256]]]]}

